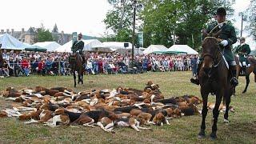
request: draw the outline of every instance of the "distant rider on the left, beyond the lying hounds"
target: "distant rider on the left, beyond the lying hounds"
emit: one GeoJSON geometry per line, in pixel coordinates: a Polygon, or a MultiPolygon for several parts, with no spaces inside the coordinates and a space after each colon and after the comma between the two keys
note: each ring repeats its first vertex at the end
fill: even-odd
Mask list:
{"type": "Polygon", "coordinates": [[[73,45],[71,47],[71,50],[73,51],[73,54],[75,54],[79,50],[79,54],[81,54],[82,57],[82,63],[85,63],[85,57],[82,53],[84,42],[82,42],[82,34],[78,34],[78,40],[73,42],[73,45]]]}

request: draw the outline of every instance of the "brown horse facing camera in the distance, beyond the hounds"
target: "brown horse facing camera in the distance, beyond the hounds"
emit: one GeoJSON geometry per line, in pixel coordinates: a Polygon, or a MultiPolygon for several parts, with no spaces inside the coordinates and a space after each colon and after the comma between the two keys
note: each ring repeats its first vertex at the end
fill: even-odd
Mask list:
{"type": "Polygon", "coordinates": [[[74,55],[70,55],[70,68],[73,72],[73,78],[74,78],[74,87],[77,86],[76,82],[76,74],[75,72],[78,72],[78,84],[81,82],[83,84],[83,63],[82,63],[82,56],[79,53],[75,53],[74,55]]]}

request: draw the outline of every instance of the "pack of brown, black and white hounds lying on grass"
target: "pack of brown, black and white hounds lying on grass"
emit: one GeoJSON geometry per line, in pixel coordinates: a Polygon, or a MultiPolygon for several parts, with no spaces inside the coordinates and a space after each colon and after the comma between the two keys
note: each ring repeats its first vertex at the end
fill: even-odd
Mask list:
{"type": "MultiPolygon", "coordinates": [[[[170,125],[171,118],[200,114],[202,100],[193,95],[164,98],[159,86],[147,82],[144,90],[122,88],[86,90],[78,93],[65,87],[36,86],[1,92],[11,106],[0,111],[0,118],[17,117],[21,121],[46,126],[99,126],[114,133],[114,127],[151,130],[150,125],[170,125]]],[[[209,103],[209,108],[212,105],[209,103]]]]}

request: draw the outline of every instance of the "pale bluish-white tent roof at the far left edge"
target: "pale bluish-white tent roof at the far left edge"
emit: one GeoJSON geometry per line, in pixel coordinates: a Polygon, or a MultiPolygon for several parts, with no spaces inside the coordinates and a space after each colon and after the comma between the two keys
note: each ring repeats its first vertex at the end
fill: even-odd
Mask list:
{"type": "Polygon", "coordinates": [[[10,34],[1,34],[0,42],[2,43],[2,49],[9,50],[24,50],[27,46],[18,39],[12,37],[10,34]]]}

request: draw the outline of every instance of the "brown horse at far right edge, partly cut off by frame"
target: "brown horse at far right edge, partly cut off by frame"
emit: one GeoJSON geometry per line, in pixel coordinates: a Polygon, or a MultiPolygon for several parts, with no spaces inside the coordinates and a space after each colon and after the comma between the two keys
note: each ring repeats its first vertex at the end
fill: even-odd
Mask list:
{"type": "MultiPolygon", "coordinates": [[[[242,71],[242,66],[240,66],[239,64],[239,58],[238,57],[234,57],[235,62],[237,63],[237,75],[236,77],[239,77],[239,74],[242,71]]],[[[246,93],[247,88],[249,86],[250,83],[250,74],[253,72],[254,73],[254,82],[256,82],[256,60],[252,57],[248,58],[248,62],[250,63],[249,67],[246,67],[246,70],[244,71],[245,76],[246,76],[246,87],[245,89],[242,91],[242,93],[246,93]]]]}

